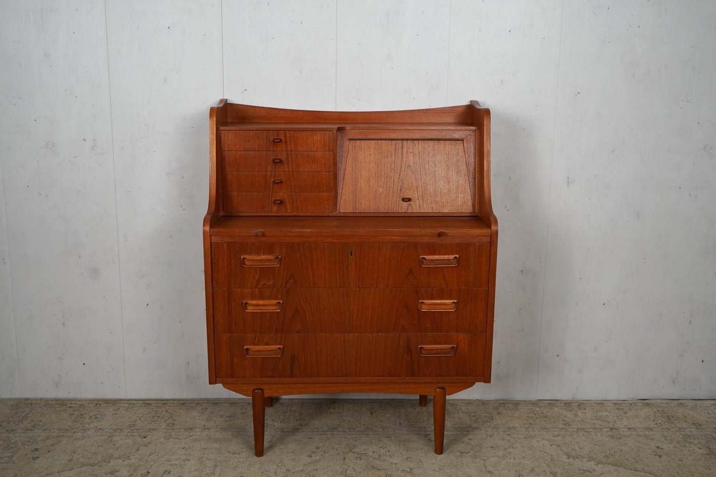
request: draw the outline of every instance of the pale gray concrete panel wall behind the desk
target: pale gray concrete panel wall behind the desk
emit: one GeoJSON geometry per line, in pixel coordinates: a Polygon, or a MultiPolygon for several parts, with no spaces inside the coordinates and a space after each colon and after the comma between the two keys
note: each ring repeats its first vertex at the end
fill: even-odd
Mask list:
{"type": "Polygon", "coordinates": [[[493,114],[493,383],[716,397],[713,1],[3,1],[0,396],[206,384],[208,107],[493,114]]]}

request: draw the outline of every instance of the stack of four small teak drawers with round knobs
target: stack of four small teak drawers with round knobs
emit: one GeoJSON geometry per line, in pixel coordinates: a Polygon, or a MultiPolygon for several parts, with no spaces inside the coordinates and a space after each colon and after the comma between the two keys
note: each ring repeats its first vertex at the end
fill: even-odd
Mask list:
{"type": "Polygon", "coordinates": [[[223,211],[335,209],[332,131],[221,132],[223,211]]]}

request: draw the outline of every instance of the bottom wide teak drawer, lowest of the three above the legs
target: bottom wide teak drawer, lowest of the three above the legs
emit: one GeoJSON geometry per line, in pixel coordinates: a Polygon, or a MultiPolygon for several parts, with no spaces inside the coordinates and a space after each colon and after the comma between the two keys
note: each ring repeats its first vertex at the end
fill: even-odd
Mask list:
{"type": "Polygon", "coordinates": [[[483,377],[485,334],[216,334],[216,377],[483,377]]]}

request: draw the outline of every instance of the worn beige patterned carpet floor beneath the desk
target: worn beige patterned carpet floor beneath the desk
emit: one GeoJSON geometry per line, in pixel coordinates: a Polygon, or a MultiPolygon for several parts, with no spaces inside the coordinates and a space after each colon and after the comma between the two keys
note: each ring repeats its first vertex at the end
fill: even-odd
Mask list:
{"type": "Polygon", "coordinates": [[[0,400],[0,476],[716,476],[716,401],[0,400]]]}

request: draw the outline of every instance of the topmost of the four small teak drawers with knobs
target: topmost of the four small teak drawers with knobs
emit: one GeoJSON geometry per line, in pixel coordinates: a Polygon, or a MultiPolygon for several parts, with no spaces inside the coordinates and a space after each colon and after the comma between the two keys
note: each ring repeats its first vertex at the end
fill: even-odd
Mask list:
{"type": "Polygon", "coordinates": [[[332,131],[221,131],[222,150],[333,150],[332,131]]]}

